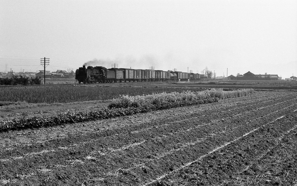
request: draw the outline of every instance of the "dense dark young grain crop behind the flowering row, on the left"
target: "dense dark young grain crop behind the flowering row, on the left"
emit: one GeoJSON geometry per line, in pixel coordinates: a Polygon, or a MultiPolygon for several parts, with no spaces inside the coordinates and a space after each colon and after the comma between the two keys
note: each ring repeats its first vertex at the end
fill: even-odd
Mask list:
{"type": "Polygon", "coordinates": [[[111,100],[123,94],[131,96],[161,92],[205,90],[190,87],[166,86],[34,86],[1,87],[0,102],[69,103],[92,100],[111,100]]]}

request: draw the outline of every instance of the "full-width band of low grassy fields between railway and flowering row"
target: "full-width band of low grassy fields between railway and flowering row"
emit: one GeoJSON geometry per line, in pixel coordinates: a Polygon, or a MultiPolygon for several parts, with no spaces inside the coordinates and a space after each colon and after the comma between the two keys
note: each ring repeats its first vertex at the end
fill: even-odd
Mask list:
{"type": "MultiPolygon", "coordinates": [[[[50,82],[48,82],[50,83],[50,82]]],[[[198,81],[79,84],[78,86],[1,87],[0,102],[69,103],[111,100],[120,95],[147,95],[161,92],[201,91],[205,89],[296,90],[297,82],[286,81],[198,81]]]]}

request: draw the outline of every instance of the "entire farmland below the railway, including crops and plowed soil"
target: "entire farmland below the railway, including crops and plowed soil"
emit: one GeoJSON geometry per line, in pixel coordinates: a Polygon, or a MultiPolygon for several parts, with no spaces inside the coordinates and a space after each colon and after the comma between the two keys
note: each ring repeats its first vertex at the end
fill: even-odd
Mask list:
{"type": "Polygon", "coordinates": [[[1,87],[0,185],[297,186],[296,93],[271,81],[1,87]]]}

